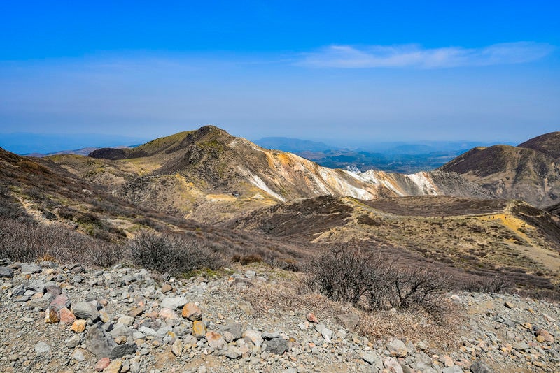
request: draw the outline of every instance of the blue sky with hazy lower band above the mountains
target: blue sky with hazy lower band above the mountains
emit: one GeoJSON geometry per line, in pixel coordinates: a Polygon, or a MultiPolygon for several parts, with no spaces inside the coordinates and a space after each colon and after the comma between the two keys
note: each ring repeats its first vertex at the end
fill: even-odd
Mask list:
{"type": "Polygon", "coordinates": [[[557,1],[2,1],[0,136],[521,142],[560,130],[559,19],[557,1]]]}

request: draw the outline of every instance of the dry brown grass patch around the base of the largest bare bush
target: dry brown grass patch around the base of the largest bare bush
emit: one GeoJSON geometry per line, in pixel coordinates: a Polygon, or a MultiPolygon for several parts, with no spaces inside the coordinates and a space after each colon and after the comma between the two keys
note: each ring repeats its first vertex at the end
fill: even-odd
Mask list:
{"type": "Polygon", "coordinates": [[[243,289],[241,294],[251,302],[258,316],[267,314],[269,309],[276,309],[283,312],[313,312],[319,320],[337,322],[338,314],[352,312],[360,316],[356,332],[370,339],[398,337],[412,342],[423,340],[435,347],[458,346],[459,335],[456,330],[464,321],[450,300],[442,300],[447,312],[439,320],[433,319],[420,307],[365,312],[348,302],[334,302],[324,295],[302,293],[303,275],[291,273],[289,276],[290,279],[276,281],[276,284],[255,284],[254,287],[243,289]]]}

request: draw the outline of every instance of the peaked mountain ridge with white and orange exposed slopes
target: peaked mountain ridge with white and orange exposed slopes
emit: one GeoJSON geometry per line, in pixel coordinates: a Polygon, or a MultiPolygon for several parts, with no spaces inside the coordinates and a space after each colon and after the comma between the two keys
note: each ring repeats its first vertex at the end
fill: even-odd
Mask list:
{"type": "Polygon", "coordinates": [[[358,175],[258,147],[214,126],[132,149],[99,149],[87,159],[50,160],[133,203],[202,221],[223,221],[239,212],[321,195],[362,200],[425,194],[493,197],[461,175],[381,171],[358,175]]]}

